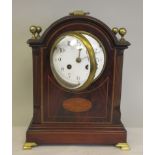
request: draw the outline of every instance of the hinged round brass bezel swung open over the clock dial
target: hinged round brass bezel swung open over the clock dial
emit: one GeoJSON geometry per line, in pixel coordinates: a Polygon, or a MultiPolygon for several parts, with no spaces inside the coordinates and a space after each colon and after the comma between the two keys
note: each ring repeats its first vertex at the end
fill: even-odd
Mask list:
{"type": "Polygon", "coordinates": [[[54,42],[52,49],[51,49],[50,60],[52,60],[52,61],[50,61],[50,66],[51,66],[51,70],[52,70],[52,73],[53,73],[56,81],[66,89],[69,89],[72,91],[81,91],[81,90],[86,89],[94,80],[95,73],[97,70],[97,63],[96,63],[96,59],[95,59],[94,49],[93,49],[92,45],[89,43],[88,39],[86,37],[84,37],[82,34],[78,33],[77,31],[70,31],[70,32],[63,33],[56,39],[56,41],[54,42]],[[86,49],[88,51],[88,55],[90,58],[90,74],[89,74],[86,82],[80,87],[76,87],[78,85],[73,85],[73,84],[70,84],[70,83],[66,82],[65,80],[63,80],[58,75],[58,73],[56,72],[56,70],[54,68],[53,50],[55,49],[56,45],[64,38],[65,35],[73,36],[73,37],[76,37],[77,39],[79,39],[84,44],[84,46],[86,47],[86,49]],[[51,59],[51,57],[52,57],[52,59],[51,59]],[[52,65],[51,65],[51,62],[52,62],[52,65]],[[71,86],[72,86],[72,88],[71,88],[71,86]]]}

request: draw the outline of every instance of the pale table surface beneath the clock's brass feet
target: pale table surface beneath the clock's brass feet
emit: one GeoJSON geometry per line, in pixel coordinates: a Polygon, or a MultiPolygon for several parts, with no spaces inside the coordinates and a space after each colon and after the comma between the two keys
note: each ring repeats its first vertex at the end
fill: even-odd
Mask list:
{"type": "Polygon", "coordinates": [[[142,128],[127,128],[130,151],[122,151],[114,146],[90,145],[48,145],[23,150],[26,127],[13,127],[13,155],[142,155],[142,128]]]}

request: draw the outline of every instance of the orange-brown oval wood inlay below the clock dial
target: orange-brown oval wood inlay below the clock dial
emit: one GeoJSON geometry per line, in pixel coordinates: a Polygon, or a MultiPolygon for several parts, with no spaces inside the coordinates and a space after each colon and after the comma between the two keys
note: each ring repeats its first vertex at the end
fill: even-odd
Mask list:
{"type": "Polygon", "coordinates": [[[63,102],[63,107],[71,112],[84,112],[92,107],[92,103],[84,98],[70,98],[63,102]]]}

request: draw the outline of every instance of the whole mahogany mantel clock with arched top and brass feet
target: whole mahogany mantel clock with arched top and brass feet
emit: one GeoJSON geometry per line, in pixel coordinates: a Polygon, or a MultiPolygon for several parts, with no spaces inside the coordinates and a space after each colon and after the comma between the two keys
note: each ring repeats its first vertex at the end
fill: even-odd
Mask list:
{"type": "Polygon", "coordinates": [[[125,28],[75,11],[42,31],[31,26],[33,118],[24,149],[106,144],[128,149],[120,99],[125,28]],[[120,36],[119,38],[116,35],[120,36]]]}

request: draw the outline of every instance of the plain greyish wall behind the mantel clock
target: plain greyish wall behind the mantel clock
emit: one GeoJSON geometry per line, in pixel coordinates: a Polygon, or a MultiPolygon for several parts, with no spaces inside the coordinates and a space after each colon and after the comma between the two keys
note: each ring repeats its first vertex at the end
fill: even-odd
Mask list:
{"type": "Polygon", "coordinates": [[[143,49],[142,0],[13,0],[13,125],[28,126],[32,118],[32,52],[29,26],[43,31],[74,10],[89,11],[110,28],[126,27],[131,42],[125,51],[121,111],[127,127],[142,127],[143,49]]]}

